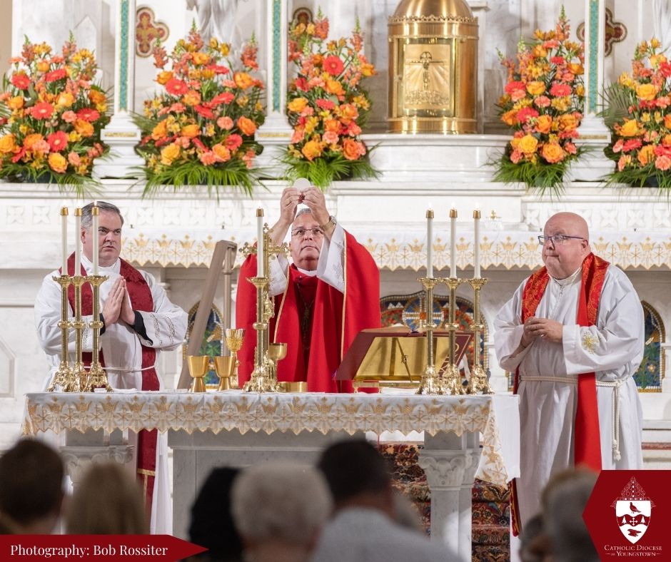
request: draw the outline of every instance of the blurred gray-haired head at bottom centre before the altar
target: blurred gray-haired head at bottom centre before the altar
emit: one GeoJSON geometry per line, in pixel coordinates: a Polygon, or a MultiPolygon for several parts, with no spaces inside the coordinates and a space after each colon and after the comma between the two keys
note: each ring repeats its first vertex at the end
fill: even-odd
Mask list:
{"type": "Polygon", "coordinates": [[[266,463],[250,466],[231,492],[233,521],[253,541],[273,538],[306,544],[331,514],[326,480],[313,466],[266,463]]]}

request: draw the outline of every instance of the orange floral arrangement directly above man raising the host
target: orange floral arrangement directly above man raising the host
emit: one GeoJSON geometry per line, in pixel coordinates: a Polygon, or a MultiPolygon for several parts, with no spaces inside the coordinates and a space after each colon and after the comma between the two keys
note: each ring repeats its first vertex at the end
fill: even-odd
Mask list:
{"type": "Polygon", "coordinates": [[[288,88],[293,136],[283,157],[289,178],[308,178],[322,189],[333,180],[377,175],[359,138],[370,111],[361,81],[375,68],[361,52],[358,22],[349,40],[327,42],[327,36],[321,10],[313,23],[293,21],[289,29],[288,57],[298,76],[288,88]]]}

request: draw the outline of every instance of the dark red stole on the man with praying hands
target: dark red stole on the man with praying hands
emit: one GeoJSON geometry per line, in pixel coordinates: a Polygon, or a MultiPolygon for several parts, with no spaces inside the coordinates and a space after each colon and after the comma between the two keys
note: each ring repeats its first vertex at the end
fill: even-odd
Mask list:
{"type": "MultiPolygon", "coordinates": [[[[120,258],[121,259],[121,258],[120,258]]],[[[68,273],[74,272],[74,253],[68,258],[68,273]]],[[[147,285],[142,274],[125,260],[121,260],[120,275],[126,280],[126,290],[131,298],[133,310],[142,310],[143,312],[153,312],[153,297],[151,289],[147,285]]],[[[86,275],[84,266],[81,267],[81,275],[86,275]]],[[[68,300],[70,307],[74,311],[74,287],[68,287],[68,300]]],[[[81,315],[88,316],[93,314],[93,291],[89,283],[84,283],[81,287],[81,315]]],[[[91,353],[82,353],[82,361],[88,367],[91,364],[91,353]]],[[[105,365],[102,351],[100,352],[101,365],[105,365]]],[[[153,368],[156,363],[156,349],[153,347],[142,346],[142,390],[158,390],[158,375],[153,368]]],[[[119,367],[123,367],[119,365],[119,367]]],[[[156,478],[156,441],[158,439],[158,430],[148,431],[143,429],[138,433],[138,454],[137,454],[137,474],[141,481],[146,497],[146,505],[151,513],[151,499],[153,496],[154,479],[156,478]]]]}

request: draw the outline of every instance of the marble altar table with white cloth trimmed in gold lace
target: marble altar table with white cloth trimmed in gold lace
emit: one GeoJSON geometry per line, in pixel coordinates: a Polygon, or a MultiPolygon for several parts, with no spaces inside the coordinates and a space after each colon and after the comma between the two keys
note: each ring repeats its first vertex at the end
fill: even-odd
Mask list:
{"type": "MultiPolygon", "coordinates": [[[[33,434],[76,434],[80,444],[90,444],[88,452],[77,449],[84,463],[104,458],[100,446],[114,431],[168,432],[173,534],[182,538],[193,499],[214,466],[269,459],[312,464],[337,439],[398,431],[424,441],[420,466],[431,489],[433,540],[470,559],[475,477],[505,484],[519,471],[518,397],[509,395],[35,392],[27,404],[33,434]]],[[[116,447],[110,458],[118,456],[118,446],[110,446],[116,447]]]]}

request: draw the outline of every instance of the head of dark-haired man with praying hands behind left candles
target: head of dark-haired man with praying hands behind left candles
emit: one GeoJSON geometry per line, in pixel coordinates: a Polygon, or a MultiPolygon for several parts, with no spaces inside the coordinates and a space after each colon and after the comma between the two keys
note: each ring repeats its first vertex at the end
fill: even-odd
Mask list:
{"type": "Polygon", "coordinates": [[[91,260],[94,244],[98,244],[100,265],[103,267],[113,265],[121,254],[122,227],[123,216],[116,205],[105,201],[84,205],[81,209],[81,245],[84,255],[91,260]],[[94,206],[99,208],[97,233],[92,232],[94,206]]]}

